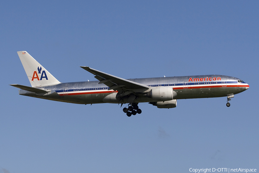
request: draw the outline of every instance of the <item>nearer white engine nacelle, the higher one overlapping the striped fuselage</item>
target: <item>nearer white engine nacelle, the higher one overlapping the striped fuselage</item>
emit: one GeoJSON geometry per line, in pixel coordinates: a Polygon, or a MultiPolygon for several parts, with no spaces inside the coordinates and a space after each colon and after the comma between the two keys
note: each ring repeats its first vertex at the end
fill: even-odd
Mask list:
{"type": "Polygon", "coordinates": [[[159,87],[151,89],[147,93],[149,98],[159,101],[168,101],[173,99],[173,88],[171,87],[159,87]]]}

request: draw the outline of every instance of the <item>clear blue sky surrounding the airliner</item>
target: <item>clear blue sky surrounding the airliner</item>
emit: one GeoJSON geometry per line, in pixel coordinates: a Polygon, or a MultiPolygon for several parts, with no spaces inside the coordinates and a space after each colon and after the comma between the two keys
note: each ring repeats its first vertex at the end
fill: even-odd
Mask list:
{"type": "Polygon", "coordinates": [[[0,172],[259,169],[258,1],[4,1],[0,10],[0,172]],[[60,82],[221,74],[250,88],[226,98],[77,105],[18,95],[17,51],[60,82]]]}

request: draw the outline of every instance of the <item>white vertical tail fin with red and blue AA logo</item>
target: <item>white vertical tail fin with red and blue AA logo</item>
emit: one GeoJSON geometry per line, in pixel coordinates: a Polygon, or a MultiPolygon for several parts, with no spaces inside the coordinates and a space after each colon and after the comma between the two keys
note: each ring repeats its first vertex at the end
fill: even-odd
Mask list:
{"type": "Polygon", "coordinates": [[[17,52],[32,87],[60,84],[40,63],[28,52],[17,52]]]}

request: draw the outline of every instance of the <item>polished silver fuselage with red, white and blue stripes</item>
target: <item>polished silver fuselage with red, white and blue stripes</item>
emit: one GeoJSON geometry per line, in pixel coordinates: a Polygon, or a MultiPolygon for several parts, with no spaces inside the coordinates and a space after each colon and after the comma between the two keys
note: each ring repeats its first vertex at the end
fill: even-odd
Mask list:
{"type": "MultiPolygon", "coordinates": [[[[241,93],[249,88],[247,83],[239,82],[241,81],[240,79],[223,75],[136,78],[128,80],[147,85],[149,89],[141,91],[142,93],[157,87],[172,87],[174,91],[173,99],[225,97],[241,93]]],[[[118,103],[115,99],[117,91],[109,90],[105,84],[98,84],[98,82],[69,82],[37,87],[39,89],[51,90],[44,95],[25,90],[19,90],[19,94],[75,104],[118,103]],[[108,95],[110,95],[109,98],[113,99],[106,99],[108,95]]],[[[154,101],[158,100],[142,96],[137,97],[134,103],[154,101]]],[[[127,101],[120,103],[127,103],[127,101]]]]}

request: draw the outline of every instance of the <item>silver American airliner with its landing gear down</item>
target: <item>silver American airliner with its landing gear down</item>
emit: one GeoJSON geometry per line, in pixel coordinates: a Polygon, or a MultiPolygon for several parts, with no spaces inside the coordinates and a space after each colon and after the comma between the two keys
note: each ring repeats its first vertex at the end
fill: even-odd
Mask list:
{"type": "Polygon", "coordinates": [[[148,102],[157,108],[175,108],[177,99],[227,97],[226,106],[235,94],[249,88],[243,80],[223,75],[178,76],[123,79],[90,67],[81,68],[98,81],[59,82],[28,52],[18,51],[31,86],[10,84],[19,95],[75,104],[128,104],[127,116],[140,114],[138,103],[148,102]]]}

